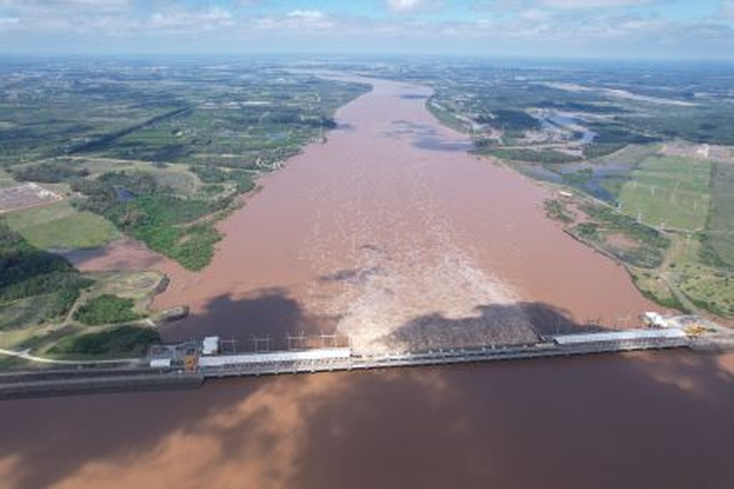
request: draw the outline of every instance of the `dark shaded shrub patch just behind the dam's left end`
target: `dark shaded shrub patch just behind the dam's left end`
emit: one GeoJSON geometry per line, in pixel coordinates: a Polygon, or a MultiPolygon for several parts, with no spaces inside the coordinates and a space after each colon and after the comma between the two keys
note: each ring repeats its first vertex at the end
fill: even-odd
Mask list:
{"type": "Polygon", "coordinates": [[[53,355],[145,355],[151,344],[161,341],[150,327],[119,326],[108,330],[62,338],[48,349],[53,355]]]}

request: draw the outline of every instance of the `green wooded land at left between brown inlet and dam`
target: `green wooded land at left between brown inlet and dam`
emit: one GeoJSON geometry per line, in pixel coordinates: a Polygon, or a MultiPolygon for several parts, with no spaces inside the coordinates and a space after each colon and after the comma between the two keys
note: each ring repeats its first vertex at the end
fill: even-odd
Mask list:
{"type": "Polygon", "coordinates": [[[97,354],[103,347],[94,338],[102,334],[102,344],[111,345],[103,353],[137,355],[158,338],[138,320],[161,280],[156,272],[81,274],[0,222],[0,347],[51,357],[97,354]],[[93,351],[84,346],[90,341],[93,351]]]}

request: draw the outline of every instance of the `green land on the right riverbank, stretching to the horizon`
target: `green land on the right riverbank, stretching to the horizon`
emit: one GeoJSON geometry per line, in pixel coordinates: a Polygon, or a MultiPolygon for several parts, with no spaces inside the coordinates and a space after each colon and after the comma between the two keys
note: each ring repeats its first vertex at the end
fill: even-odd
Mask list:
{"type": "Polygon", "coordinates": [[[473,153],[573,195],[548,200],[548,216],[624,264],[648,298],[734,317],[730,72],[603,62],[374,71],[431,85],[426,106],[469,134],[473,153]]]}

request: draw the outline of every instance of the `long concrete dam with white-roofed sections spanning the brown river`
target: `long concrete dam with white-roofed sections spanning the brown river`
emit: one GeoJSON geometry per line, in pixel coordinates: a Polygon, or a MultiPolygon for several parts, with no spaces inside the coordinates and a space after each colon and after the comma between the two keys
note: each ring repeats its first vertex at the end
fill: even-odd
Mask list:
{"type": "MultiPolygon", "coordinates": [[[[551,336],[537,344],[355,355],[349,348],[197,355],[194,366],[68,369],[0,375],[0,399],[29,396],[197,388],[207,379],[277,374],[359,371],[457,363],[531,360],[691,347],[682,330],[631,330],[551,336]]],[[[150,361],[148,365],[153,364],[150,361]]]]}

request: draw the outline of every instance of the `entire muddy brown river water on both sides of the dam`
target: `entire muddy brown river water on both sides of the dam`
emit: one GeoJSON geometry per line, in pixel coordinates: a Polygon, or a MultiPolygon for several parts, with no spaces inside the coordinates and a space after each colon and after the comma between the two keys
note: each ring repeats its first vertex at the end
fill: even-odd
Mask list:
{"type": "MultiPolygon", "coordinates": [[[[200,273],[131,244],[85,269],[167,272],[168,340],[338,332],[366,351],[522,341],[654,308],[546,219],[551,195],[468,156],[424,87],[372,80],[340,128],[222,223],[200,273]]],[[[228,380],[0,404],[3,487],[728,487],[734,355],[687,352],[228,380]]]]}

